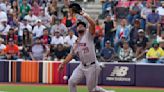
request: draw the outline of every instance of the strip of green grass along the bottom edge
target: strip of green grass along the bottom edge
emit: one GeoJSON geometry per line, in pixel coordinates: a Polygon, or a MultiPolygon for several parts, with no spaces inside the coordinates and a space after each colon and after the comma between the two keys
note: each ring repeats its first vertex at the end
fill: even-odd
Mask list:
{"type": "MultiPolygon", "coordinates": [[[[106,87],[106,89],[109,89],[106,87]]],[[[160,89],[135,89],[135,88],[110,88],[115,90],[116,92],[164,92],[164,90],[160,89]]],[[[69,92],[67,86],[7,86],[0,85],[0,92],[69,92]]],[[[78,92],[88,92],[86,87],[79,86],[78,92]]]]}

